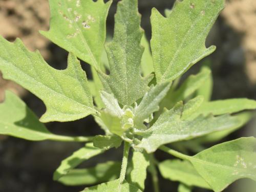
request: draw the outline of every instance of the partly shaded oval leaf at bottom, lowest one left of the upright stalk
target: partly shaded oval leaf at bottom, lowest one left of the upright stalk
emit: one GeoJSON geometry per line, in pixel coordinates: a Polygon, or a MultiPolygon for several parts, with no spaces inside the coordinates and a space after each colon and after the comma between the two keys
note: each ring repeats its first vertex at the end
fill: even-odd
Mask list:
{"type": "Polygon", "coordinates": [[[117,179],[120,173],[121,162],[108,161],[94,167],[71,169],[70,172],[58,181],[65,185],[92,185],[117,179]]]}

